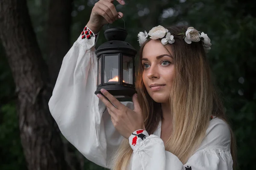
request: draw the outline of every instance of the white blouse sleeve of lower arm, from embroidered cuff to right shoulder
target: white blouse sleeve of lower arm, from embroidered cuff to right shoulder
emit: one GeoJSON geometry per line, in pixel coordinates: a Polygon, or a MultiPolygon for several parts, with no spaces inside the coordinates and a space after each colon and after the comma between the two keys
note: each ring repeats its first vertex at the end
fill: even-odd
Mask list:
{"type": "Polygon", "coordinates": [[[131,170],[233,170],[230,130],[221,119],[210,121],[201,147],[183,164],[165,150],[164,142],[146,130],[136,130],[129,137],[134,150],[131,170]]]}

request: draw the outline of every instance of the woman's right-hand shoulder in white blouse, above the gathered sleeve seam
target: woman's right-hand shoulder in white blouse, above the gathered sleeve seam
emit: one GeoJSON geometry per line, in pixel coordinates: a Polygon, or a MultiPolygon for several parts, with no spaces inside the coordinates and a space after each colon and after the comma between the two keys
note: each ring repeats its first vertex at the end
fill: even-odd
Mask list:
{"type": "Polygon", "coordinates": [[[230,149],[230,126],[222,119],[215,117],[209,121],[206,136],[198,150],[201,149],[230,149]]]}

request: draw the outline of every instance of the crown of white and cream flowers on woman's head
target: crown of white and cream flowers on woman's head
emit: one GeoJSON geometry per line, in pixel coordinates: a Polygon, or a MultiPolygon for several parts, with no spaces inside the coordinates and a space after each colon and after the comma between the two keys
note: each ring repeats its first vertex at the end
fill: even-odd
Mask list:
{"type": "MultiPolygon", "coordinates": [[[[208,50],[211,49],[211,40],[207,36],[207,34],[204,34],[204,32],[199,32],[197,31],[194,27],[189,27],[186,30],[186,33],[180,33],[180,34],[175,34],[175,35],[184,35],[183,39],[185,40],[186,43],[191,44],[193,42],[198,42],[202,41],[204,49],[208,52],[208,50]]],[[[174,36],[171,35],[168,29],[164,28],[163,26],[157,26],[152,28],[148,33],[145,32],[140,32],[138,34],[138,41],[140,43],[140,46],[147,40],[147,39],[152,39],[152,40],[157,40],[161,39],[161,42],[163,45],[166,45],[167,43],[174,43],[174,36]]]]}

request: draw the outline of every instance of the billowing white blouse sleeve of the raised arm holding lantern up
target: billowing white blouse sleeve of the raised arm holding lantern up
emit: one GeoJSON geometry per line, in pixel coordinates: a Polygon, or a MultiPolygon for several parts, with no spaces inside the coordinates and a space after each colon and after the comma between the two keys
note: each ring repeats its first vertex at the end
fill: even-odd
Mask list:
{"type": "MultiPolygon", "coordinates": [[[[97,38],[96,38],[97,39],[97,38]]],[[[97,88],[95,34],[85,26],[65,55],[49,100],[49,110],[64,137],[88,160],[110,168],[111,154],[124,137],[116,131],[97,88]]],[[[122,102],[133,109],[132,102],[122,102]]]]}

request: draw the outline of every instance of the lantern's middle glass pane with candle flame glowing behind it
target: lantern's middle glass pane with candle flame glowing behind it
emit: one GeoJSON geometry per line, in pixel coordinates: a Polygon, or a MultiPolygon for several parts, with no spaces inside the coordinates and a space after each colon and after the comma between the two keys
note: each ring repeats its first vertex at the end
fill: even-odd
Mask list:
{"type": "Polygon", "coordinates": [[[119,56],[105,56],[104,63],[104,83],[117,83],[119,78],[118,71],[119,56]]]}

